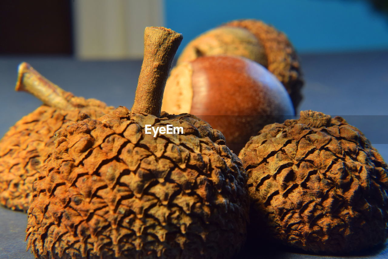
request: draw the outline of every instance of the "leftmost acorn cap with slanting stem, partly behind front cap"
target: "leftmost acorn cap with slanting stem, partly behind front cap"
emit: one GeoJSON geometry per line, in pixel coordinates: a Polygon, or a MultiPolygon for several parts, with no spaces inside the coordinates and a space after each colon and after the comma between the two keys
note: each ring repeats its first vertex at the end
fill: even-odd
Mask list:
{"type": "Polygon", "coordinates": [[[27,211],[32,184],[54,147],[55,131],[77,120],[80,113],[99,118],[114,108],[62,90],[25,62],[19,65],[16,91],[33,94],[43,105],[16,122],[0,140],[0,204],[27,211]]]}

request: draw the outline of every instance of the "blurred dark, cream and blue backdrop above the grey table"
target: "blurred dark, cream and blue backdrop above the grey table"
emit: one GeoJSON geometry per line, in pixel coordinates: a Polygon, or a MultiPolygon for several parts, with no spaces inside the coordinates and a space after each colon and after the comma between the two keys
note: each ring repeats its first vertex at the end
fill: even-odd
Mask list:
{"type": "Polygon", "coordinates": [[[12,0],[0,2],[0,54],[139,59],[145,26],[182,33],[184,47],[206,30],[246,18],[284,31],[300,54],[388,46],[386,0],[12,0]]]}

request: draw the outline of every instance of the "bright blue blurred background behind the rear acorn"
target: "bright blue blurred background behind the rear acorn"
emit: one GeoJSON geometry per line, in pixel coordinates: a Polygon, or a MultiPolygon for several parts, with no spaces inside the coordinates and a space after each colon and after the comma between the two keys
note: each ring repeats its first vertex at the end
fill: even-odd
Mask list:
{"type": "Polygon", "coordinates": [[[180,47],[234,19],[260,19],[285,32],[300,53],[388,49],[388,18],[362,0],[165,0],[165,23],[180,47]]]}

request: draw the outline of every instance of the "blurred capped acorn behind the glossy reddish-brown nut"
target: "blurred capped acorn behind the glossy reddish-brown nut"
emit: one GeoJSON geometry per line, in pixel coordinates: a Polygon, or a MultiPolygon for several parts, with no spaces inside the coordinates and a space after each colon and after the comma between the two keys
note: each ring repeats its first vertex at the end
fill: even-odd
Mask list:
{"type": "Polygon", "coordinates": [[[241,56],[263,65],[284,85],[294,109],[302,100],[298,56],[287,36],[254,19],[235,20],[206,31],[182,51],[177,64],[202,56],[241,56]]]}

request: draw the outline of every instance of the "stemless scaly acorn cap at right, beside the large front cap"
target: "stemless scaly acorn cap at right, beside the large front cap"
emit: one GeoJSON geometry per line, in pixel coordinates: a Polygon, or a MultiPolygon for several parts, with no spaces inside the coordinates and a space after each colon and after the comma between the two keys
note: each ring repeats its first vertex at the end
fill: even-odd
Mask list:
{"type": "Polygon", "coordinates": [[[301,111],[298,120],[265,126],[239,157],[261,235],[339,254],[387,238],[387,164],[343,118],[301,111]]]}

